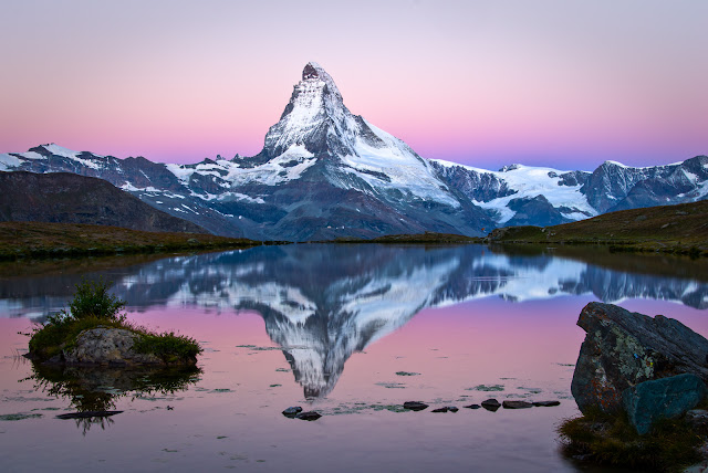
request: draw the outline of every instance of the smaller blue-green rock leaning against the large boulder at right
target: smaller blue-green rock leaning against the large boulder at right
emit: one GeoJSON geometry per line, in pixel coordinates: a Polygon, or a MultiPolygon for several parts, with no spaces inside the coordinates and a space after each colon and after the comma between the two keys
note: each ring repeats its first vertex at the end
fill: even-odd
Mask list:
{"type": "Polygon", "coordinates": [[[698,406],[705,396],[706,383],[696,375],[684,374],[627,388],[622,401],[629,422],[644,435],[656,420],[679,417],[698,406]]]}

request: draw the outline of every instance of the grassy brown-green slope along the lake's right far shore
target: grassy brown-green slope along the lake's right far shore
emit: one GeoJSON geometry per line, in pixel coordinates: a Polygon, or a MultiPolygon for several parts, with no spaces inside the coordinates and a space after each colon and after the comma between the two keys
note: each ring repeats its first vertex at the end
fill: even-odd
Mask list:
{"type": "Polygon", "coordinates": [[[611,251],[708,256],[708,201],[605,213],[554,227],[492,231],[489,243],[593,244],[611,251]]]}

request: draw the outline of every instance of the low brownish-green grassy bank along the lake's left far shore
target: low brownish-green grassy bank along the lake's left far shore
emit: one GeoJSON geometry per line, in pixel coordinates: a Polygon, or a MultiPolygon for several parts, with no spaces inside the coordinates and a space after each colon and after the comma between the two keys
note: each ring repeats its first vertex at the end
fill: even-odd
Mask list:
{"type": "Polygon", "coordinates": [[[227,250],[260,244],[264,243],[201,233],[144,232],[79,223],[0,222],[0,260],[227,250]]]}

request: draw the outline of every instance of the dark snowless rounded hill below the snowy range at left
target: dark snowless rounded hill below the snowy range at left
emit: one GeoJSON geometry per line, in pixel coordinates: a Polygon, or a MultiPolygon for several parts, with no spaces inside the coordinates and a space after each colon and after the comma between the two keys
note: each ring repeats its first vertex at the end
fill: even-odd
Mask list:
{"type": "Polygon", "coordinates": [[[69,172],[0,172],[0,220],[207,233],[201,227],[160,212],[103,179],[69,172]]]}

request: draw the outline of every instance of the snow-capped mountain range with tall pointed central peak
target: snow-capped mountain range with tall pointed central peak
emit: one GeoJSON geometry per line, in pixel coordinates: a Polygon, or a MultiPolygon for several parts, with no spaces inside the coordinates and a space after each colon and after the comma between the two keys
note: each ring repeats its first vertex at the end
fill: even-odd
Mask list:
{"type": "Polygon", "coordinates": [[[309,63],[253,157],[163,165],[58,145],[0,155],[0,170],[98,177],[207,230],[259,240],[325,240],[552,225],[612,210],[708,196],[708,157],[594,172],[521,165],[488,171],[427,160],[353,115],[332,77],[309,63]]]}

